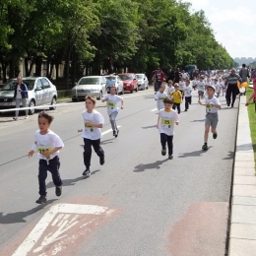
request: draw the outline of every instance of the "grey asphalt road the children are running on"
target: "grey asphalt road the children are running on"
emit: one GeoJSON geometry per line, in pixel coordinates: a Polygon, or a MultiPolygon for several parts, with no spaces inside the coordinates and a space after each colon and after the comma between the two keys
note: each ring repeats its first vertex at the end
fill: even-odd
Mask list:
{"type": "MultiPolygon", "coordinates": [[[[116,139],[105,103],[97,103],[105,118],[105,164],[100,166],[94,153],[88,179],[82,176],[83,140],[77,133],[84,103],[50,111],[51,129],[65,144],[60,153],[64,184],[57,198],[48,175],[45,205],[35,204],[37,159],[26,157],[37,114],[18,121],[0,116],[1,256],[224,255],[237,102],[234,108],[223,105],[219,136],[210,136],[208,152],[201,150],[205,108],[196,95],[188,112],[183,103],[174,159],[167,160],[160,154],[153,90],[124,97],[116,139]]],[[[224,104],[224,96],[220,100],[224,104]]]]}

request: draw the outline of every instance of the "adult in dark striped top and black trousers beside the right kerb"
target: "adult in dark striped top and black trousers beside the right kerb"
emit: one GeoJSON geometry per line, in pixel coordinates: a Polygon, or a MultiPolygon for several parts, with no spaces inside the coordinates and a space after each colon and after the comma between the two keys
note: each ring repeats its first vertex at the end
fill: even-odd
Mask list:
{"type": "Polygon", "coordinates": [[[242,83],[242,79],[240,78],[239,75],[235,74],[235,69],[231,69],[231,74],[225,79],[225,85],[227,85],[227,90],[225,95],[227,106],[230,105],[231,95],[232,95],[231,107],[233,107],[235,98],[239,94],[239,90],[237,87],[238,82],[242,83]]]}

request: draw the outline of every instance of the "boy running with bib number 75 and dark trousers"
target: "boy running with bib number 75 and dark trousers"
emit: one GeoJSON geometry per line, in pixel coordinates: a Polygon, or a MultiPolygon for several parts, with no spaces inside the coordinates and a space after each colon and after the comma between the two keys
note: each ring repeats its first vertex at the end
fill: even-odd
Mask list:
{"type": "Polygon", "coordinates": [[[160,132],[161,156],[166,155],[166,144],[168,147],[168,159],[173,159],[173,135],[174,123],[178,125],[179,117],[171,107],[173,100],[170,97],[163,99],[164,108],[160,109],[157,128],[160,132]]]}

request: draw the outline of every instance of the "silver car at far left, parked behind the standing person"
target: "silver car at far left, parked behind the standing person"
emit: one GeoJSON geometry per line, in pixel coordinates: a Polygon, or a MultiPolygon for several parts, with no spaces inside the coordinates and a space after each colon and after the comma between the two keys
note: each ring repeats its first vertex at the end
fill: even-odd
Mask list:
{"type": "MultiPolygon", "coordinates": [[[[45,77],[28,77],[23,78],[23,83],[28,87],[28,105],[30,107],[38,105],[54,105],[50,109],[56,109],[57,90],[56,87],[45,77]]],[[[0,90],[0,107],[14,108],[16,102],[14,99],[14,88],[17,79],[9,80],[0,90]]],[[[21,107],[22,107],[21,103],[21,107]]],[[[29,109],[29,114],[34,113],[34,108],[29,109]]]]}

